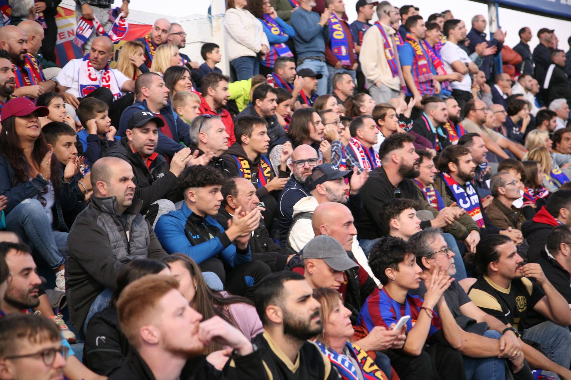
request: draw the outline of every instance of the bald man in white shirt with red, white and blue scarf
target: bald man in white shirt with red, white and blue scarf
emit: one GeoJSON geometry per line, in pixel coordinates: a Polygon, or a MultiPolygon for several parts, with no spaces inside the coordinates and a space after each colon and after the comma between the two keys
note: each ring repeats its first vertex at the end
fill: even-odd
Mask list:
{"type": "Polygon", "coordinates": [[[113,102],[123,96],[123,92],[135,92],[134,80],[109,67],[112,54],[111,39],[98,36],[91,44],[89,59],[72,59],[66,63],[59,72],[57,81],[67,104],[77,108],[79,100],[93,96],[112,108],[113,102]]]}

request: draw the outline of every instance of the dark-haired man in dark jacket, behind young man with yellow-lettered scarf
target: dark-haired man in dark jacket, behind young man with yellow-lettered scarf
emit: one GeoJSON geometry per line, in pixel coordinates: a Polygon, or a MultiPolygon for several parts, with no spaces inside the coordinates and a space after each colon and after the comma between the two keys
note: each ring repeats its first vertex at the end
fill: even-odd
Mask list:
{"type": "Polygon", "coordinates": [[[274,87],[269,84],[259,85],[252,93],[252,104],[236,115],[234,122],[246,115],[262,117],[268,123],[270,144],[282,137],[286,137],[286,130],[282,128],[278,121],[278,116],[276,116],[276,108],[278,107],[276,99],[278,99],[278,91],[274,87]]]}

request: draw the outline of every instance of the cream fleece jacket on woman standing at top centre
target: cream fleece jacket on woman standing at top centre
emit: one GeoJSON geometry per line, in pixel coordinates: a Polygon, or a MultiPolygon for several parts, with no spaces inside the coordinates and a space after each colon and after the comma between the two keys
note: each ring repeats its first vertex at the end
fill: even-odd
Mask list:
{"type": "Polygon", "coordinates": [[[262,23],[246,9],[228,9],[224,15],[224,31],[228,42],[228,60],[255,56],[262,50],[262,44],[270,47],[262,23]]]}

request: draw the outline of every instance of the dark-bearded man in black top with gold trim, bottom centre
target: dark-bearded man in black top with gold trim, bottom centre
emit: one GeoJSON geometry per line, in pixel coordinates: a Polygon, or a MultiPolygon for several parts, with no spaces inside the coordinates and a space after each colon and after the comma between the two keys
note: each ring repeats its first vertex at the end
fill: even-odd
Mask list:
{"type": "Polygon", "coordinates": [[[308,341],[323,326],[320,304],[302,275],[289,271],[268,275],[256,289],[254,303],[264,332],[252,343],[262,352],[268,378],[339,379],[329,359],[308,341]]]}

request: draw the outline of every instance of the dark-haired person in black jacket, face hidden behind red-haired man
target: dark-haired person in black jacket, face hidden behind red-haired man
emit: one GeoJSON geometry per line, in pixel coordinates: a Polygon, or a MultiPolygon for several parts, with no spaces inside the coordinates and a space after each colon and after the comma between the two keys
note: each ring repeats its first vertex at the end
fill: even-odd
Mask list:
{"type": "Polygon", "coordinates": [[[111,303],[96,312],[89,320],[83,346],[83,364],[96,374],[110,376],[121,367],[124,359],[132,352],[131,345],[119,325],[116,303],[128,284],[143,276],[154,274],[170,275],[171,271],[168,264],[159,260],[129,261],[117,275],[117,287],[111,303]]]}

